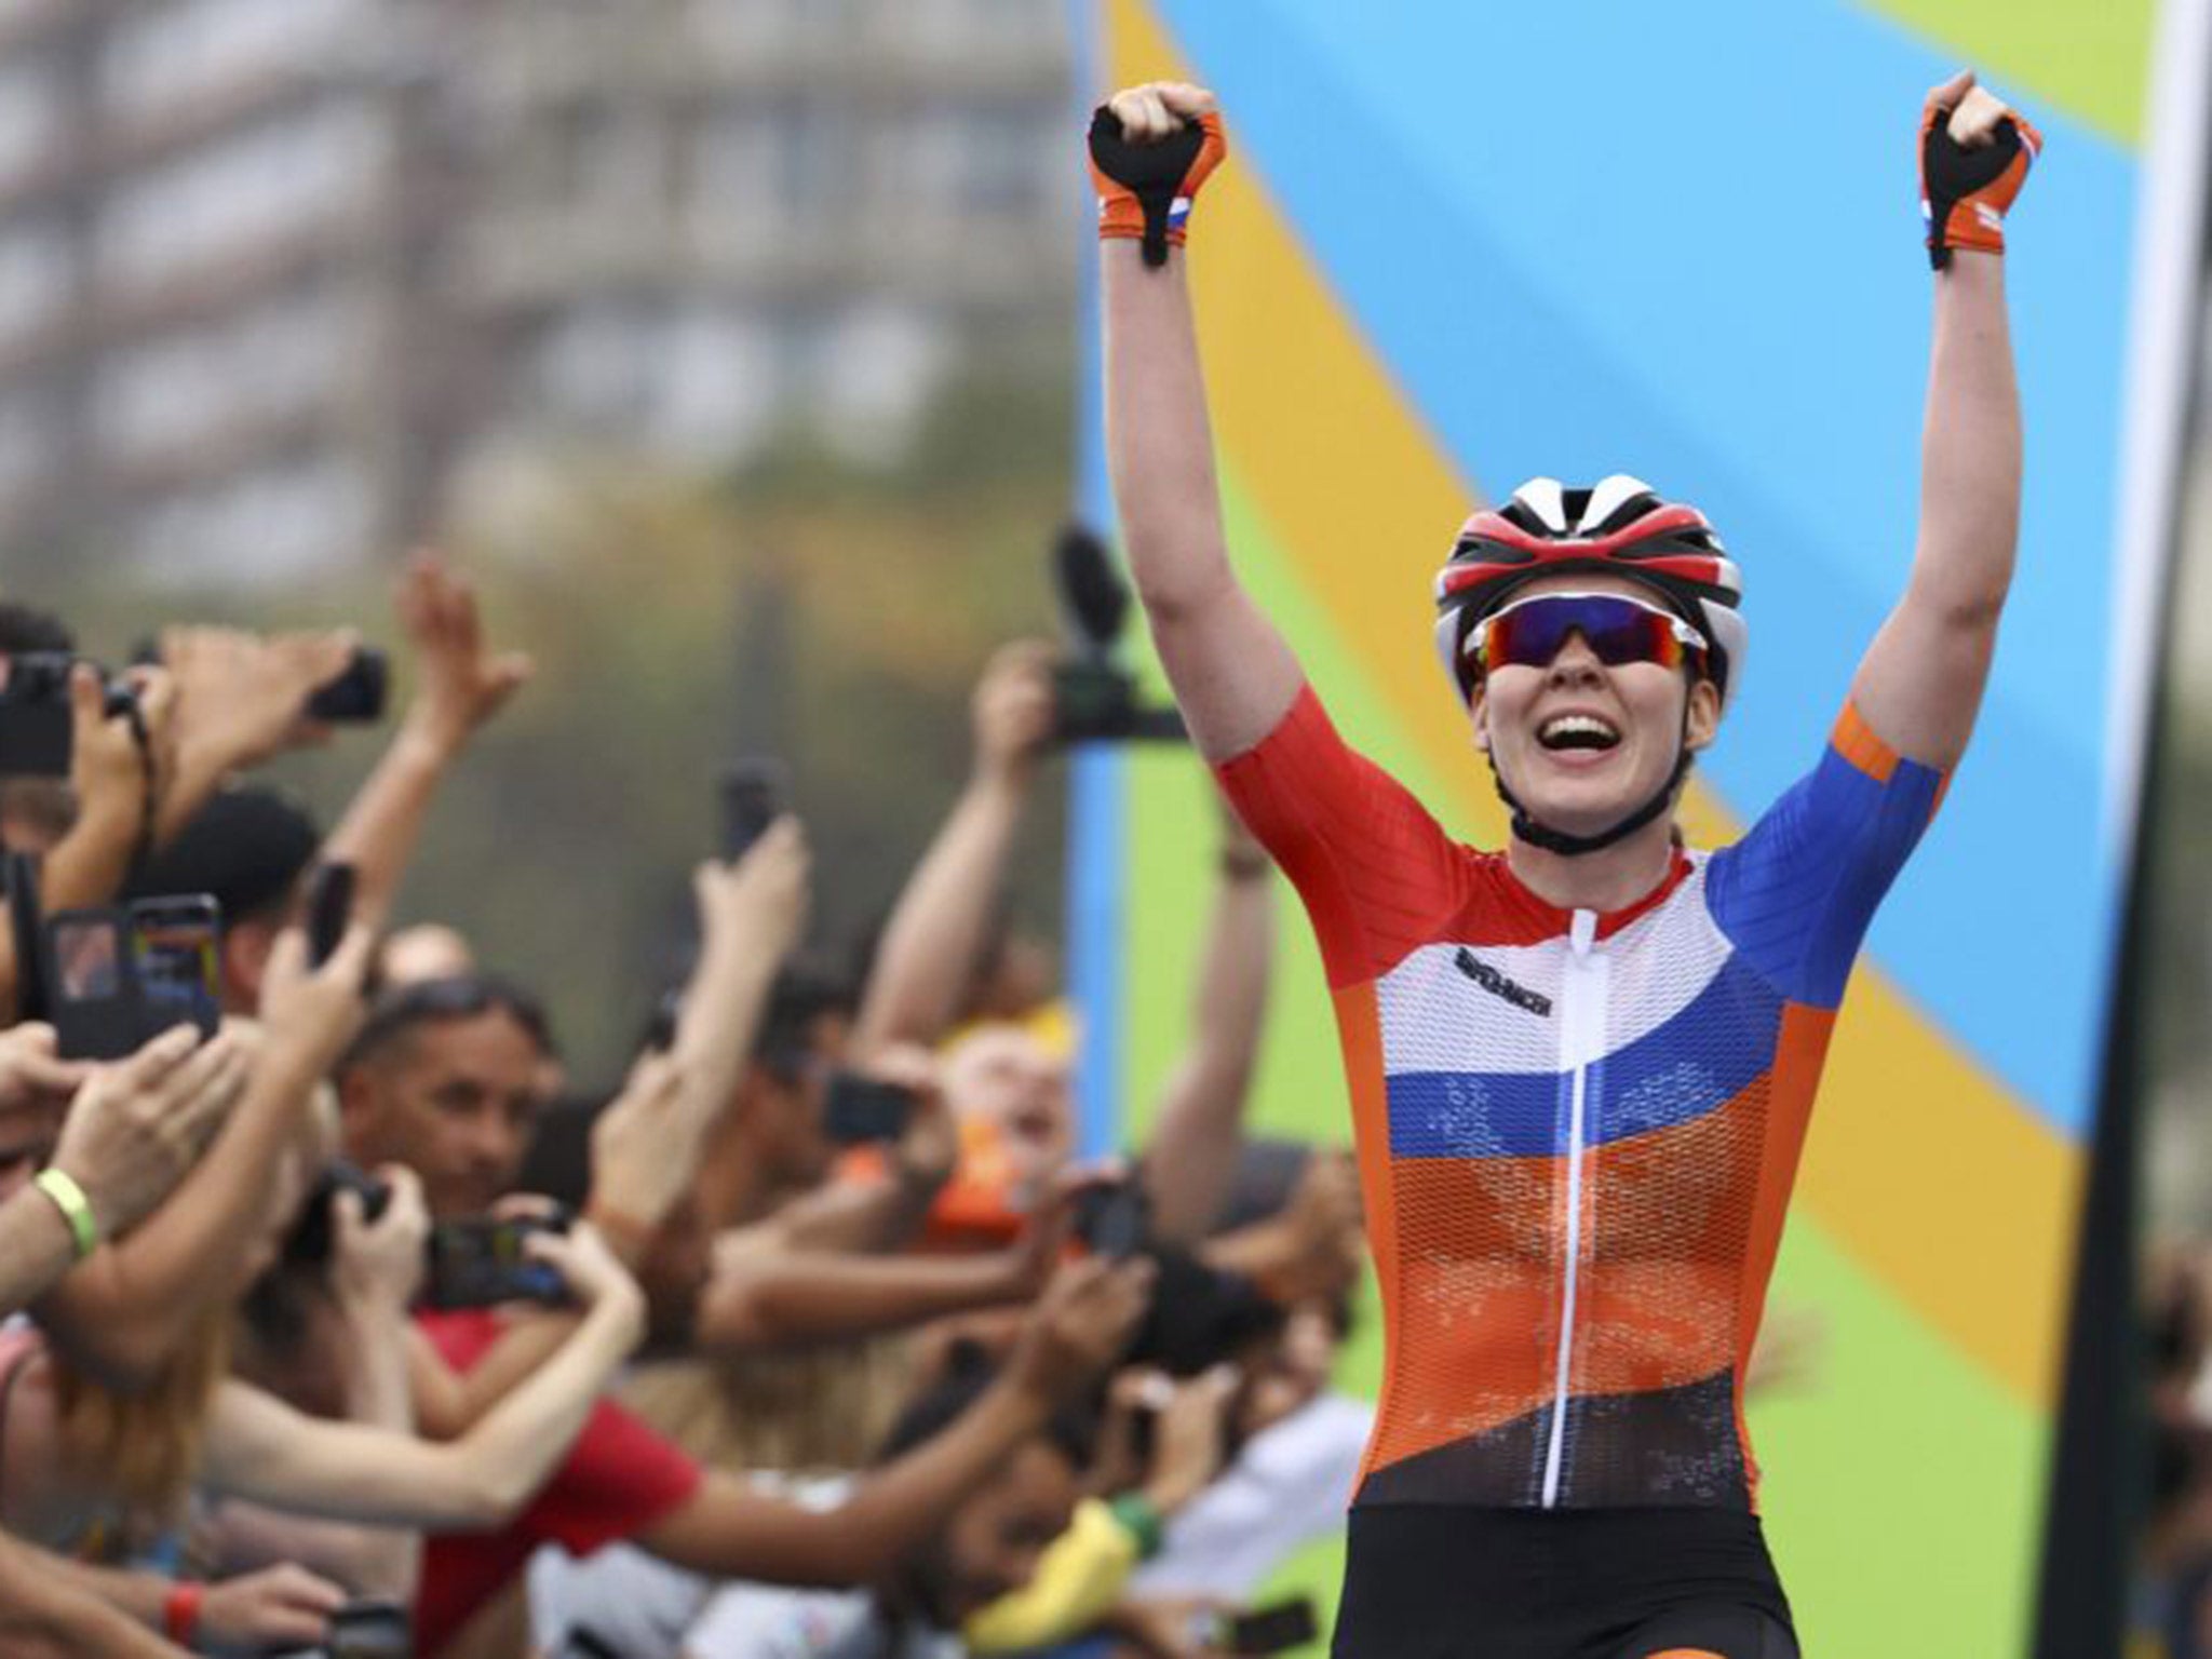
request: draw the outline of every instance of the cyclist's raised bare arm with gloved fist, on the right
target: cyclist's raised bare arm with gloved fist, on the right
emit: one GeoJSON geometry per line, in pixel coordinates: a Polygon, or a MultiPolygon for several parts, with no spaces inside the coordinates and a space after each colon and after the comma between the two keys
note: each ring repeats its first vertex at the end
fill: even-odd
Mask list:
{"type": "Polygon", "coordinates": [[[1905,597],[1860,661],[1851,701],[1891,750],[1933,768],[1953,765],[1966,748],[2013,584],[2020,389],[1995,223],[2037,144],[1971,73],[1929,93],[1922,188],[1938,272],[1920,540],[1905,597]],[[1955,177],[1947,184],[1944,175],[1955,177]]]}

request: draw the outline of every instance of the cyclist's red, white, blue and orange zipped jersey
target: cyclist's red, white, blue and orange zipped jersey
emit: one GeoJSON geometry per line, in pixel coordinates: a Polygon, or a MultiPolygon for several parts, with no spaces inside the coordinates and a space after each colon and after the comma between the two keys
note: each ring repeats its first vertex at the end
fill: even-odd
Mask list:
{"type": "Polygon", "coordinates": [[[1942,794],[1845,708],[1732,847],[1566,911],[1303,690],[1219,768],[1336,1002],[1383,1283],[1358,1504],[1756,1511],[1743,1367],[1836,1004],[1942,794]]]}

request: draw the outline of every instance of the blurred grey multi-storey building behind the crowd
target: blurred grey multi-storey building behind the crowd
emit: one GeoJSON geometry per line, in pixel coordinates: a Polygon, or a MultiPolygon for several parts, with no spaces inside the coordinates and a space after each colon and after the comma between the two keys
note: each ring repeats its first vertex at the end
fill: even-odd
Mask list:
{"type": "Polygon", "coordinates": [[[0,560],[372,557],[1064,354],[1044,0],[0,0],[0,560]]]}

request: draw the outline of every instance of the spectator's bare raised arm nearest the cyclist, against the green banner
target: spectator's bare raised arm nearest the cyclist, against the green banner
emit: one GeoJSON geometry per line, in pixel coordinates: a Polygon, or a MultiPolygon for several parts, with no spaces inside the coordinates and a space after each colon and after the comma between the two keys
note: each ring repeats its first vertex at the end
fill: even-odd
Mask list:
{"type": "Polygon", "coordinates": [[[1206,1237],[1237,1177],[1274,960],[1274,865],[1228,803],[1221,818],[1221,874],[1190,1040],[1168,1073],[1144,1148],[1152,1232],[1186,1245],[1206,1237]]]}

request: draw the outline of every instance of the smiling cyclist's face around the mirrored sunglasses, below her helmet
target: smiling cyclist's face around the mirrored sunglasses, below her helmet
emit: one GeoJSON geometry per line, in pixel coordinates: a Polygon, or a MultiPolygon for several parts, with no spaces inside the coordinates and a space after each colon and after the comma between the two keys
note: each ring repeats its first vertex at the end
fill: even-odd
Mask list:
{"type": "MultiPolygon", "coordinates": [[[[1515,588],[1513,599],[1544,593],[1652,602],[1650,588],[1613,575],[1540,577],[1515,588]]],[[[1571,836],[1593,836],[1666,785],[1681,752],[1686,697],[1688,745],[1701,750],[1721,717],[1710,679],[1692,681],[1659,664],[1613,668],[1582,635],[1571,635],[1546,668],[1491,670],[1469,712],[1475,745],[1491,754],[1528,816],[1571,836]]]]}

